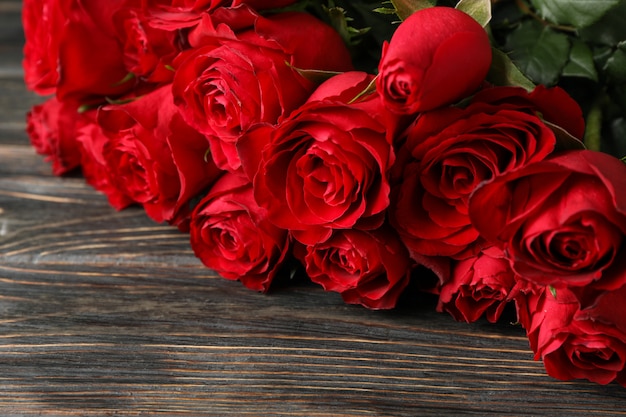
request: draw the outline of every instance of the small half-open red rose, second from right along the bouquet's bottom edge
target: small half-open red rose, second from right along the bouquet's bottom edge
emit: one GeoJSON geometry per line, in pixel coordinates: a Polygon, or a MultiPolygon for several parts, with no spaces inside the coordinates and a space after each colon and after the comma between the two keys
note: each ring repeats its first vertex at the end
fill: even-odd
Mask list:
{"type": "Polygon", "coordinates": [[[439,294],[437,311],[447,311],[455,320],[475,322],[483,314],[498,321],[515,286],[515,275],[502,251],[495,247],[456,261],[450,281],[439,294]]]}

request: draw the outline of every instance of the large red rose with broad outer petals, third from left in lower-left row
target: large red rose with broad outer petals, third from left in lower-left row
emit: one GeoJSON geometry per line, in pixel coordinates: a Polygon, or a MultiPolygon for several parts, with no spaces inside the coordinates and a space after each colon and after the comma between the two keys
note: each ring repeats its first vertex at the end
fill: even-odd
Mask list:
{"type": "Polygon", "coordinates": [[[184,228],[189,201],[219,172],[204,158],[204,137],[178,114],[170,85],[128,104],[103,107],[98,123],[109,138],[103,156],[116,187],[155,221],[184,228]]]}

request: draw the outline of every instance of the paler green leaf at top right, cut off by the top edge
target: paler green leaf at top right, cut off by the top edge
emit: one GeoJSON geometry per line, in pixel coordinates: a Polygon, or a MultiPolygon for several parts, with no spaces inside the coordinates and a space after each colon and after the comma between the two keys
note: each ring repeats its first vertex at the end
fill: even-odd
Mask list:
{"type": "Polygon", "coordinates": [[[620,0],[531,0],[542,18],[577,28],[597,22],[619,2],[620,0]]]}

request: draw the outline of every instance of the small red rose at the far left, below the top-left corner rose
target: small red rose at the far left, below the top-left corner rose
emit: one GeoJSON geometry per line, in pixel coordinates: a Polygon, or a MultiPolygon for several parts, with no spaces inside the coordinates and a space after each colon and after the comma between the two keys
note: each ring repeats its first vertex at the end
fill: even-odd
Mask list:
{"type": "Polygon", "coordinates": [[[80,165],[77,130],[87,123],[75,104],[61,103],[55,97],[33,106],[26,116],[26,132],[37,153],[52,162],[52,172],[62,175],[80,165]]]}

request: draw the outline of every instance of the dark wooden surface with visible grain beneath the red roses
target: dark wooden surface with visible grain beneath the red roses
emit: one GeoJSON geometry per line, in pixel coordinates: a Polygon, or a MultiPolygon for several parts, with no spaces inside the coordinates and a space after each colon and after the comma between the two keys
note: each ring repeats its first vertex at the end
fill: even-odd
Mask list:
{"type": "Polygon", "coordinates": [[[523,330],[393,312],[304,280],[261,295],[187,238],[55,178],[24,133],[20,3],[0,0],[0,415],[626,415],[626,389],[546,376],[523,330]]]}

